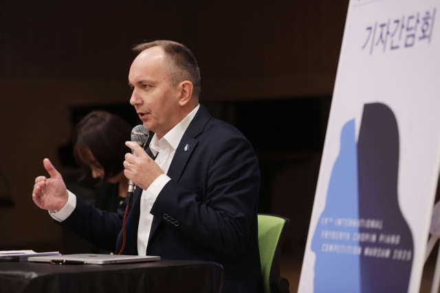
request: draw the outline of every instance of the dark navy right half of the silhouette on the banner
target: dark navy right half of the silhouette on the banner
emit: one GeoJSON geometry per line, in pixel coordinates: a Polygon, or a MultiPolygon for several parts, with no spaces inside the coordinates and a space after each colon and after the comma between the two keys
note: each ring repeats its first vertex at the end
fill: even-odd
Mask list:
{"type": "Polygon", "coordinates": [[[358,138],[361,292],[408,292],[414,245],[397,196],[399,130],[393,111],[380,103],[364,105],[358,138]],[[376,224],[379,224],[375,228],[376,224]],[[372,228],[373,226],[373,228],[372,228]]]}

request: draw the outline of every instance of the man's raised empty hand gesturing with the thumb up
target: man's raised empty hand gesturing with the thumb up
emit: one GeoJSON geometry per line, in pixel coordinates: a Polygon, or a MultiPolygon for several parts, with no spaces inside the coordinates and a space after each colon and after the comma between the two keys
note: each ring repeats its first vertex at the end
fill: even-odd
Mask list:
{"type": "Polygon", "coordinates": [[[67,199],[69,199],[63,177],[56,171],[49,159],[44,159],[43,165],[50,178],[36,177],[32,199],[36,206],[44,210],[61,210],[67,204],[67,199]]]}

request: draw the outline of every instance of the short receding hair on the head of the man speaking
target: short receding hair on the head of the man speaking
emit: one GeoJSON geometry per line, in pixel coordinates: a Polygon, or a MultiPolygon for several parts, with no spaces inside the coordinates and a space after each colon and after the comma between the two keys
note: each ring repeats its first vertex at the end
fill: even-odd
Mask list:
{"type": "Polygon", "coordinates": [[[171,86],[174,87],[184,80],[189,80],[194,86],[195,94],[199,96],[201,91],[199,65],[188,47],[173,41],[153,41],[135,45],[133,51],[140,53],[151,47],[162,47],[168,57],[171,86]]]}

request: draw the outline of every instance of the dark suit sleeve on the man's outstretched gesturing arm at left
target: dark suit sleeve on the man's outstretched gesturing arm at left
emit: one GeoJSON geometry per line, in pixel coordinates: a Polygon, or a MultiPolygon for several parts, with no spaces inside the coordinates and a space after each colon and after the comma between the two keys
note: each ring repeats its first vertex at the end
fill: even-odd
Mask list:
{"type": "Polygon", "coordinates": [[[73,213],[63,222],[55,222],[100,248],[114,251],[122,228],[125,206],[124,202],[118,208],[118,213],[109,213],[77,197],[73,213]]]}

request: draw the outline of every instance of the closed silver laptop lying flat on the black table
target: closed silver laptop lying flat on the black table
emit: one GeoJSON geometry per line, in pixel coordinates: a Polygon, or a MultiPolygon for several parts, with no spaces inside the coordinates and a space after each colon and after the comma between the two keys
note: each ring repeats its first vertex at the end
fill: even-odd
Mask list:
{"type": "Polygon", "coordinates": [[[160,261],[160,257],[140,256],[140,255],[120,255],[120,254],[64,254],[50,255],[45,257],[29,257],[28,261],[38,263],[52,263],[65,265],[105,265],[108,263],[142,263],[146,261],[160,261]]]}

